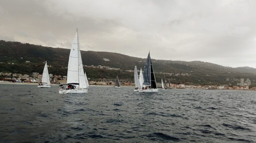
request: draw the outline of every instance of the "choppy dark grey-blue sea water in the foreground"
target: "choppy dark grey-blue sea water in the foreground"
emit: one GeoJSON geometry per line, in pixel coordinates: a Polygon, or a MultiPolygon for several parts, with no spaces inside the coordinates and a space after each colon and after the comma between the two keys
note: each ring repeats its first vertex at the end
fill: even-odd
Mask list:
{"type": "Polygon", "coordinates": [[[0,142],[256,142],[255,91],[0,88],[0,142]]]}

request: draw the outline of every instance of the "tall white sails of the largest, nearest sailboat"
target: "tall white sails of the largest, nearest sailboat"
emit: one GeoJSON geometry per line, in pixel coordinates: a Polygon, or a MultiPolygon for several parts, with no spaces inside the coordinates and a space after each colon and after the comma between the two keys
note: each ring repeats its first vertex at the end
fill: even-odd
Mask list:
{"type": "Polygon", "coordinates": [[[87,88],[85,81],[78,32],[76,32],[69,54],[67,84],[78,83],[79,88],[87,88]]]}

